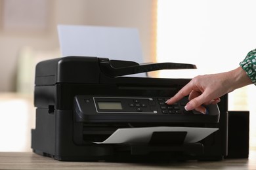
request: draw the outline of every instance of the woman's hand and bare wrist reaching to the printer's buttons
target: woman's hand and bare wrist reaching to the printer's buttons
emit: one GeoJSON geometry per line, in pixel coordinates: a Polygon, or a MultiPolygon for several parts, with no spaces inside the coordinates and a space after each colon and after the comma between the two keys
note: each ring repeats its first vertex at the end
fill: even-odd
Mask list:
{"type": "Polygon", "coordinates": [[[252,84],[251,79],[242,67],[225,73],[196,76],[166,103],[171,105],[188,95],[185,109],[196,109],[205,114],[206,109],[202,105],[219,103],[224,94],[248,84],[252,84]]]}

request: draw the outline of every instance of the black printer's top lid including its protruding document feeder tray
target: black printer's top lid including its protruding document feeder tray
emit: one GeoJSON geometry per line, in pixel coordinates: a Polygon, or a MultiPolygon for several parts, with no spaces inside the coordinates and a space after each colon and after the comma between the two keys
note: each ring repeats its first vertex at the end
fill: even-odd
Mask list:
{"type": "Polygon", "coordinates": [[[119,76],[147,73],[162,69],[196,69],[196,65],[187,63],[149,63],[140,65],[134,61],[68,56],[37,63],[35,85],[45,86],[57,83],[98,84],[100,82],[100,75],[119,78],[119,76]]]}

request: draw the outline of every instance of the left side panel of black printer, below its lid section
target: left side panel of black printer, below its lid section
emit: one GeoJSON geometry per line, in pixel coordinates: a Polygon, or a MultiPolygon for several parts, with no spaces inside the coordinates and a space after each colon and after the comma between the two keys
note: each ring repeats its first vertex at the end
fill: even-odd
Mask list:
{"type": "Polygon", "coordinates": [[[55,86],[36,86],[34,105],[36,109],[35,129],[32,129],[32,149],[41,155],[55,154],[55,86]]]}

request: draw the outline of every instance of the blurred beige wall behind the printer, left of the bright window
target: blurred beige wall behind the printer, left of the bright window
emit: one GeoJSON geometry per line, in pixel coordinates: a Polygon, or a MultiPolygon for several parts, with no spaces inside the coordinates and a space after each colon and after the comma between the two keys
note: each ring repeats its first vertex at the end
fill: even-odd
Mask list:
{"type": "MultiPolygon", "coordinates": [[[[9,21],[15,21],[15,18],[10,16],[15,14],[11,13],[15,12],[11,10],[17,8],[14,6],[18,6],[17,2],[0,0],[0,92],[16,90],[16,66],[20,50],[24,46],[32,46],[34,50],[40,51],[59,48],[56,32],[58,24],[137,27],[144,60],[154,61],[152,56],[154,0],[22,0],[22,5],[18,3],[18,10],[24,7],[28,9],[28,15],[30,10],[44,10],[39,12],[39,17],[45,15],[43,26],[31,30],[26,29],[26,16],[24,21],[19,20],[20,25],[15,26],[14,23],[14,26],[9,28],[9,21]],[[33,3],[37,4],[33,5],[33,3]],[[38,4],[45,6],[38,8],[38,4]]],[[[14,17],[22,18],[15,15],[14,17]]]]}

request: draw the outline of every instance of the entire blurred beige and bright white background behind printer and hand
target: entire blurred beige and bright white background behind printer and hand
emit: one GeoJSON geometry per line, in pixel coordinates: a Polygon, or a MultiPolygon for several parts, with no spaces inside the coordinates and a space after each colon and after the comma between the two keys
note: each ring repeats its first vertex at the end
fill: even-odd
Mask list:
{"type": "MultiPolygon", "coordinates": [[[[0,0],[0,151],[30,152],[35,127],[35,64],[61,57],[57,25],[135,27],[144,62],[181,62],[196,71],[154,76],[192,78],[229,71],[256,48],[253,0],[0,0]]],[[[129,58],[127,58],[129,60],[129,58]]],[[[254,85],[229,95],[229,110],[250,111],[256,148],[254,85]]]]}

